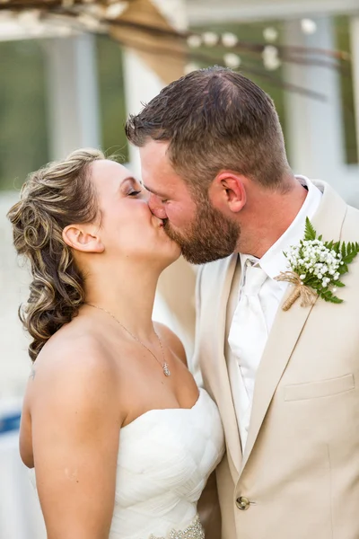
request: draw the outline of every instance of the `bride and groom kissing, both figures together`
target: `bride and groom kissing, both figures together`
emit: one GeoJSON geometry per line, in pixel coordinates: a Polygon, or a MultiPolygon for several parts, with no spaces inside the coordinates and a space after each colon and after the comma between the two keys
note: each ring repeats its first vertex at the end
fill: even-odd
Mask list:
{"type": "Polygon", "coordinates": [[[272,100],[229,69],[169,84],[126,132],[142,181],[81,149],[8,213],[48,539],[357,539],[359,211],[293,174],[272,100]],[[152,320],[180,253],[189,369],[152,320]]]}

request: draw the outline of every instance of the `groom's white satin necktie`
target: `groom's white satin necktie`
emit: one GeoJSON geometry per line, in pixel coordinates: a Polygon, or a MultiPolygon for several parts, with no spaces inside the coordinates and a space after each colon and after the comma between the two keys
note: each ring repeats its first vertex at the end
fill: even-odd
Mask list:
{"type": "Polygon", "coordinates": [[[240,301],[233,315],[229,344],[236,356],[251,404],[257,369],[267,342],[267,323],[258,293],[267,274],[248,260],[244,268],[244,284],[240,301]],[[235,335],[233,334],[235,331],[235,335]]]}

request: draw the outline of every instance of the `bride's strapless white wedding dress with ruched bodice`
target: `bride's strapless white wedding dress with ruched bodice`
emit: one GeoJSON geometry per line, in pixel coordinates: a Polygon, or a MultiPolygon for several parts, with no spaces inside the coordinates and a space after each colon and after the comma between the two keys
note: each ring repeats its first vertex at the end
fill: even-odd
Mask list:
{"type": "Polygon", "coordinates": [[[147,411],[123,427],[109,539],[203,539],[197,500],[223,452],[204,389],[190,409],[147,411]]]}

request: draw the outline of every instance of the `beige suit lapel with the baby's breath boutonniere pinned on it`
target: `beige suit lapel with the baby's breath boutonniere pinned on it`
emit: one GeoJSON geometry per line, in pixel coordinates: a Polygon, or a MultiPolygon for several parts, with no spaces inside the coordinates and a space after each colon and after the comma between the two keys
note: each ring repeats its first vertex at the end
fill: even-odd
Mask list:
{"type": "MultiPolygon", "coordinates": [[[[324,240],[337,241],[340,239],[340,231],[346,215],[346,203],[324,182],[315,182],[315,184],[323,190],[323,197],[312,224],[319,234],[323,234],[324,240]]],[[[291,291],[289,288],[283,301],[291,291]]],[[[259,429],[276,392],[276,387],[283,376],[285,367],[291,358],[293,349],[300,338],[302,328],[312,308],[315,308],[314,305],[301,307],[300,302],[296,301],[287,312],[284,312],[281,306],[278,309],[258,368],[250,430],[243,455],[242,470],[248,462],[250,453],[256,443],[259,429]]]]}

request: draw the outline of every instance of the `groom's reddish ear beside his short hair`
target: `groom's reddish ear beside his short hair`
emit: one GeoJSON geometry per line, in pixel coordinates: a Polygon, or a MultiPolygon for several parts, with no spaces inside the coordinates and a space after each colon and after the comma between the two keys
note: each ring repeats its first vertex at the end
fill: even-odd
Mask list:
{"type": "Polygon", "coordinates": [[[215,176],[209,188],[209,196],[215,208],[238,213],[246,203],[247,195],[241,174],[222,171],[215,176]]]}

